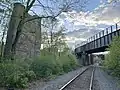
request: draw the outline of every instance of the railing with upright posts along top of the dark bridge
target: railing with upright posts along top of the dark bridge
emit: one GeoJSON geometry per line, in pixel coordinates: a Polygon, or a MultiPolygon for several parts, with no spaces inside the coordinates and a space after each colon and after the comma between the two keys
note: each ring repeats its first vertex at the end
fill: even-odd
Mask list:
{"type": "Polygon", "coordinates": [[[118,23],[116,23],[115,25],[111,25],[111,26],[107,27],[105,30],[102,30],[102,31],[98,32],[97,34],[91,36],[86,41],[81,42],[80,44],[76,44],[75,48],[83,46],[83,45],[85,45],[87,43],[90,43],[90,42],[92,42],[92,41],[94,41],[96,39],[99,39],[100,37],[108,35],[108,34],[114,32],[114,31],[117,31],[119,29],[120,29],[120,21],[118,23]]]}

